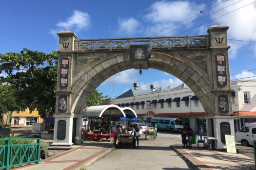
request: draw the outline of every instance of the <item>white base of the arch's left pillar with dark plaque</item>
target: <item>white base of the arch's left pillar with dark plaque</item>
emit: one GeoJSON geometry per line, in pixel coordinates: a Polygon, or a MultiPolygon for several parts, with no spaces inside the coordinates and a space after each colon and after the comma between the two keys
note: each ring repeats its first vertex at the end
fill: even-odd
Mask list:
{"type": "Polygon", "coordinates": [[[51,146],[70,147],[72,143],[73,118],[56,118],[54,121],[54,142],[51,146]]]}

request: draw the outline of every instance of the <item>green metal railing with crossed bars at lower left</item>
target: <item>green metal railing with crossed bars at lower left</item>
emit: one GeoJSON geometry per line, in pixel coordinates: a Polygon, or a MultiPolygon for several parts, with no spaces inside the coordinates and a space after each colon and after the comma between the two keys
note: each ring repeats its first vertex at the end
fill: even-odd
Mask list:
{"type": "Polygon", "coordinates": [[[24,164],[39,164],[40,138],[0,139],[0,169],[24,164]],[[37,140],[35,143],[34,140],[37,140]]]}

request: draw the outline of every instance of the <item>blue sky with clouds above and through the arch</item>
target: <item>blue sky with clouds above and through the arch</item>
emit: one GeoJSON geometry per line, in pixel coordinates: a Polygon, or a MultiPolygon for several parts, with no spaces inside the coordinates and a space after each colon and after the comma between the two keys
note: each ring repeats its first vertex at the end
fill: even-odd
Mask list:
{"type": "MultiPolygon", "coordinates": [[[[56,33],[63,30],[74,31],[78,39],[174,36],[207,34],[216,24],[229,26],[228,38],[240,40],[228,41],[231,79],[256,80],[255,0],[1,0],[0,53],[58,50],[56,33]]],[[[113,79],[115,97],[135,82],[140,89],[182,83],[162,71],[148,69],[139,75],[131,69],[109,78],[98,90],[113,97],[113,79]]]]}

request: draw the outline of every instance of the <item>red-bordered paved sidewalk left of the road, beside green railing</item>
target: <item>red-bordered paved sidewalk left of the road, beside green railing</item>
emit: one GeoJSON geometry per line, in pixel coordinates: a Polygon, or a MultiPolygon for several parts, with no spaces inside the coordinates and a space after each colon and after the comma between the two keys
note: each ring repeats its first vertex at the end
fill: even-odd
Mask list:
{"type": "Polygon", "coordinates": [[[111,152],[109,142],[84,142],[74,149],[59,153],[39,164],[31,164],[11,170],[79,170],[111,152]]]}

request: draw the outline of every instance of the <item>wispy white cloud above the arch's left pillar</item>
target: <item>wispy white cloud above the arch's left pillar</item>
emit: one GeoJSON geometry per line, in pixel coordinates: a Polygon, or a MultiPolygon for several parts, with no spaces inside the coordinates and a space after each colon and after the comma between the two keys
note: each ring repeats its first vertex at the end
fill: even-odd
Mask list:
{"type": "Polygon", "coordinates": [[[50,29],[49,34],[57,36],[57,32],[63,30],[72,30],[76,32],[82,29],[88,30],[90,23],[90,16],[87,12],[74,10],[73,15],[71,17],[68,17],[66,21],[59,21],[56,24],[57,29],[50,29]]]}

